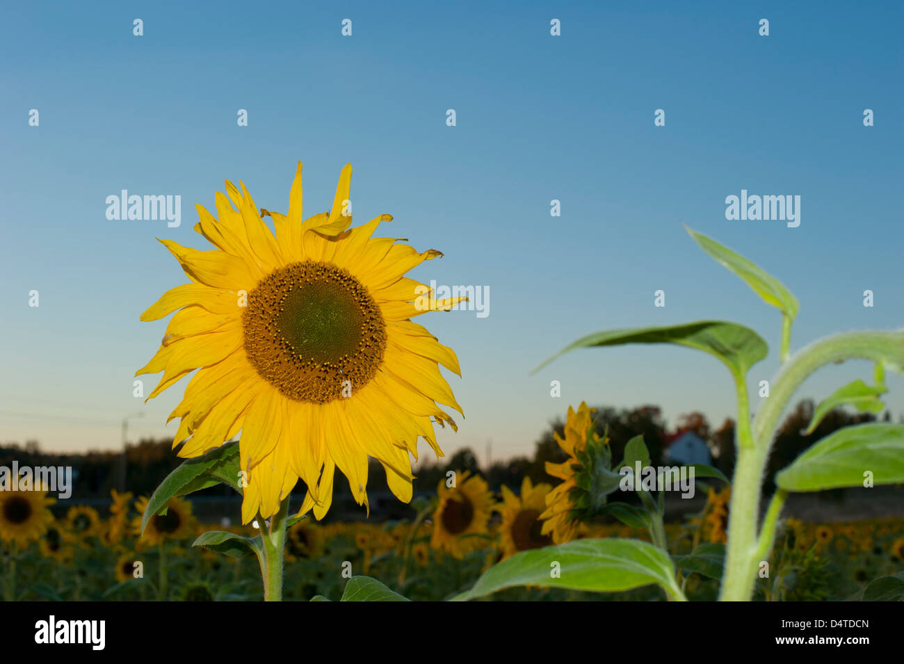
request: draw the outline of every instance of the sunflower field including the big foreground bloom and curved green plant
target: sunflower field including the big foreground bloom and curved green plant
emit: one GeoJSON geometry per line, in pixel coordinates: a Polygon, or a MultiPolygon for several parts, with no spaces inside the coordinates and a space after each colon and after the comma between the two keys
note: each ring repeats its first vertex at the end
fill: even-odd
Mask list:
{"type": "Polygon", "coordinates": [[[406,276],[441,254],[375,237],[391,215],[353,226],[351,177],[346,164],[331,210],[308,217],[300,163],[286,213],[259,208],[242,182],[226,181],[217,215],[199,205],[194,226],[213,249],[161,240],[189,281],[141,314],[146,322],[173,317],[136,375],[162,373],[151,399],[193,374],[168,418],[179,421],[173,449],[186,461],[150,496],[114,491],[108,514],[74,506],[54,516],[39,483],[0,492],[6,600],[904,597],[900,519],[783,517],[794,493],[904,482],[904,425],[866,421],[825,435],[777,472],[759,509],[778,419],[800,384],[827,364],[869,360],[872,384],[839,388],[807,430],[835,407],[878,412],[886,370],[904,367],[904,332],[846,332],[792,353],[796,297],[691,229],[706,254],[781,313],[781,370],[756,416],[747,374],[768,347],[739,323],[594,332],[559,355],[669,343],[720,360],[736,387],[733,477],[704,463],[656,467],[644,435],[616,453],[581,402],[554,435],[565,461],[545,463],[550,482],[525,477],[497,494],[479,473],[451,470],[434,495],[415,500],[419,441],[442,455],[436,427],[457,430],[448,411],[463,409],[440,371],[461,373],[455,351],[411,319],[465,298],[438,298],[406,276]],[[414,514],[329,522],[337,471],[369,514],[370,459],[414,514]],[[665,495],[688,477],[709,492],[706,505],[666,521],[665,495]],[[240,527],[193,517],[186,497],[219,485],[240,494],[240,527]],[[615,500],[619,491],[639,504],[615,500]]]}

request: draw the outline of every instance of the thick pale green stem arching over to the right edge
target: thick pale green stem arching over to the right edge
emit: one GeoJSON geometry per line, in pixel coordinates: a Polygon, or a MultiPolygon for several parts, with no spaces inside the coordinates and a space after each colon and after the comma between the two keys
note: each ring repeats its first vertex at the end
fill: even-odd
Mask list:
{"type": "MultiPolygon", "coordinates": [[[[763,401],[753,420],[752,435],[746,426],[749,416],[739,384],[738,460],[731,486],[729,544],[720,600],[746,602],[750,599],[758,560],[767,556],[772,546],[771,537],[760,538],[758,542],[757,518],[763,471],[779,417],[797,388],[816,369],[852,359],[890,360],[904,365],[904,332],[844,332],[815,341],[797,352],[782,365],[772,382],[772,393],[763,401]],[[745,440],[747,436],[751,436],[748,441],[745,440]]],[[[746,389],[743,394],[746,395],[746,389]]],[[[780,510],[781,504],[775,507],[780,510]]],[[[774,518],[777,519],[777,512],[774,518]]]]}

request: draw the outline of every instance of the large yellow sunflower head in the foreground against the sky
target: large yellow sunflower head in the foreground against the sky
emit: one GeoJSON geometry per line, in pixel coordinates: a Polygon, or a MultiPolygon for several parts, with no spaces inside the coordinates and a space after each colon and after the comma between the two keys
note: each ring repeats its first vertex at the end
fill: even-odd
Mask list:
{"type": "Polygon", "coordinates": [[[410,501],[409,453],[417,459],[422,437],[442,455],[433,422],[456,425],[438,403],[461,412],[438,368],[460,374],[455,352],[410,318],[465,298],[437,300],[404,276],[442,254],[372,238],[390,215],[350,228],[351,177],[346,164],[333,209],[306,220],[300,163],[286,215],[259,213],[245,185],[227,181],[228,197],[216,194],[218,219],[197,206],[194,229],[216,250],[161,240],[192,283],[142,314],[153,321],[177,312],[137,374],[164,371],[151,398],[200,368],[170,416],[181,418],[174,446],[184,443],[179,455],[193,457],[241,430],[243,523],[276,513],[299,478],[307,487],[299,514],[313,508],[323,518],[336,466],[366,504],[368,455],[410,501]]]}

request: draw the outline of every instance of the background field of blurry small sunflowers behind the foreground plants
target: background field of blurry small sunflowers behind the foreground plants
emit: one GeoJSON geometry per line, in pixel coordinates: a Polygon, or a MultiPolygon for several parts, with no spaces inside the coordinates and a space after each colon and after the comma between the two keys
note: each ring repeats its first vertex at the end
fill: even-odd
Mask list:
{"type": "MultiPolygon", "coordinates": [[[[390,596],[446,600],[473,586],[495,562],[550,542],[541,535],[538,519],[549,485],[534,487],[525,480],[520,494],[504,487],[494,496],[479,476],[468,479],[470,483],[463,482],[461,489],[441,491],[436,500],[422,500],[420,518],[327,525],[313,519],[297,521],[287,530],[283,599],[343,597],[349,592],[346,586],[355,589],[361,584],[356,579],[350,585],[349,575],[342,574],[347,566],[381,582],[382,592],[390,596]],[[438,505],[442,507],[437,510],[438,505]],[[466,519],[469,514],[471,518],[466,519]]],[[[725,494],[711,491],[701,514],[686,523],[665,525],[666,537],[677,552],[676,566],[681,567],[683,560],[687,565],[683,585],[692,600],[715,599],[719,590],[725,494]],[[691,556],[695,550],[705,555],[691,556]]],[[[244,555],[238,547],[220,552],[193,547],[210,526],[194,519],[187,500],[171,500],[166,515],[152,519],[139,537],[146,499],[134,500],[127,493],[114,491],[103,513],[74,507],[59,518],[53,517],[40,493],[0,495],[5,601],[240,602],[262,596],[253,556],[244,555]],[[24,508],[16,505],[26,500],[33,511],[17,524],[15,516],[24,508]]],[[[228,532],[254,537],[255,528],[235,527],[228,532]]],[[[645,531],[618,523],[581,525],[575,537],[649,541],[645,531]]],[[[904,519],[853,523],[787,519],[776,550],[775,575],[758,584],[756,599],[862,599],[872,579],[904,566],[904,519]]],[[[504,590],[494,598],[655,601],[664,599],[664,593],[654,586],[612,594],[527,587],[504,590]]]]}

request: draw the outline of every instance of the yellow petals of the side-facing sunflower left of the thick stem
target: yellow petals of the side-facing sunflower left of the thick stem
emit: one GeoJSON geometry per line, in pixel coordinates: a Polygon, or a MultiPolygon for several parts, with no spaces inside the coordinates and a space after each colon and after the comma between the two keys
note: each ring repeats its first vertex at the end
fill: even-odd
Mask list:
{"type": "MultiPolygon", "coordinates": [[[[553,434],[556,443],[569,455],[564,463],[546,462],[547,474],[558,477],[562,482],[546,494],[546,510],[540,515],[541,519],[545,519],[541,534],[551,535],[556,544],[563,544],[577,537],[582,516],[582,505],[579,502],[589,500],[586,492],[579,490],[578,476],[583,472],[581,458],[589,451],[593,456],[593,463],[604,462],[608,470],[608,464],[605,463],[607,459],[604,458],[608,444],[595,431],[592,419],[594,412],[596,411],[587,407],[583,401],[577,412],[569,407],[565,437],[553,434]]],[[[589,482],[587,485],[590,485],[589,482]]],[[[587,516],[591,516],[593,510],[588,511],[587,516]]]]}

